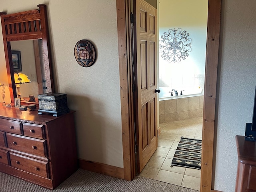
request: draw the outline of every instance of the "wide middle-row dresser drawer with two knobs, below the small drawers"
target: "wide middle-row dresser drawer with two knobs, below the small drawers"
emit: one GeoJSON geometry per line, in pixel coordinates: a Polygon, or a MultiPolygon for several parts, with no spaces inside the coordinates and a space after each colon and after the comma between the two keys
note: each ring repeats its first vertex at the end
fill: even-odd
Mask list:
{"type": "Polygon", "coordinates": [[[6,133],[8,148],[47,157],[45,140],[6,133]]]}

